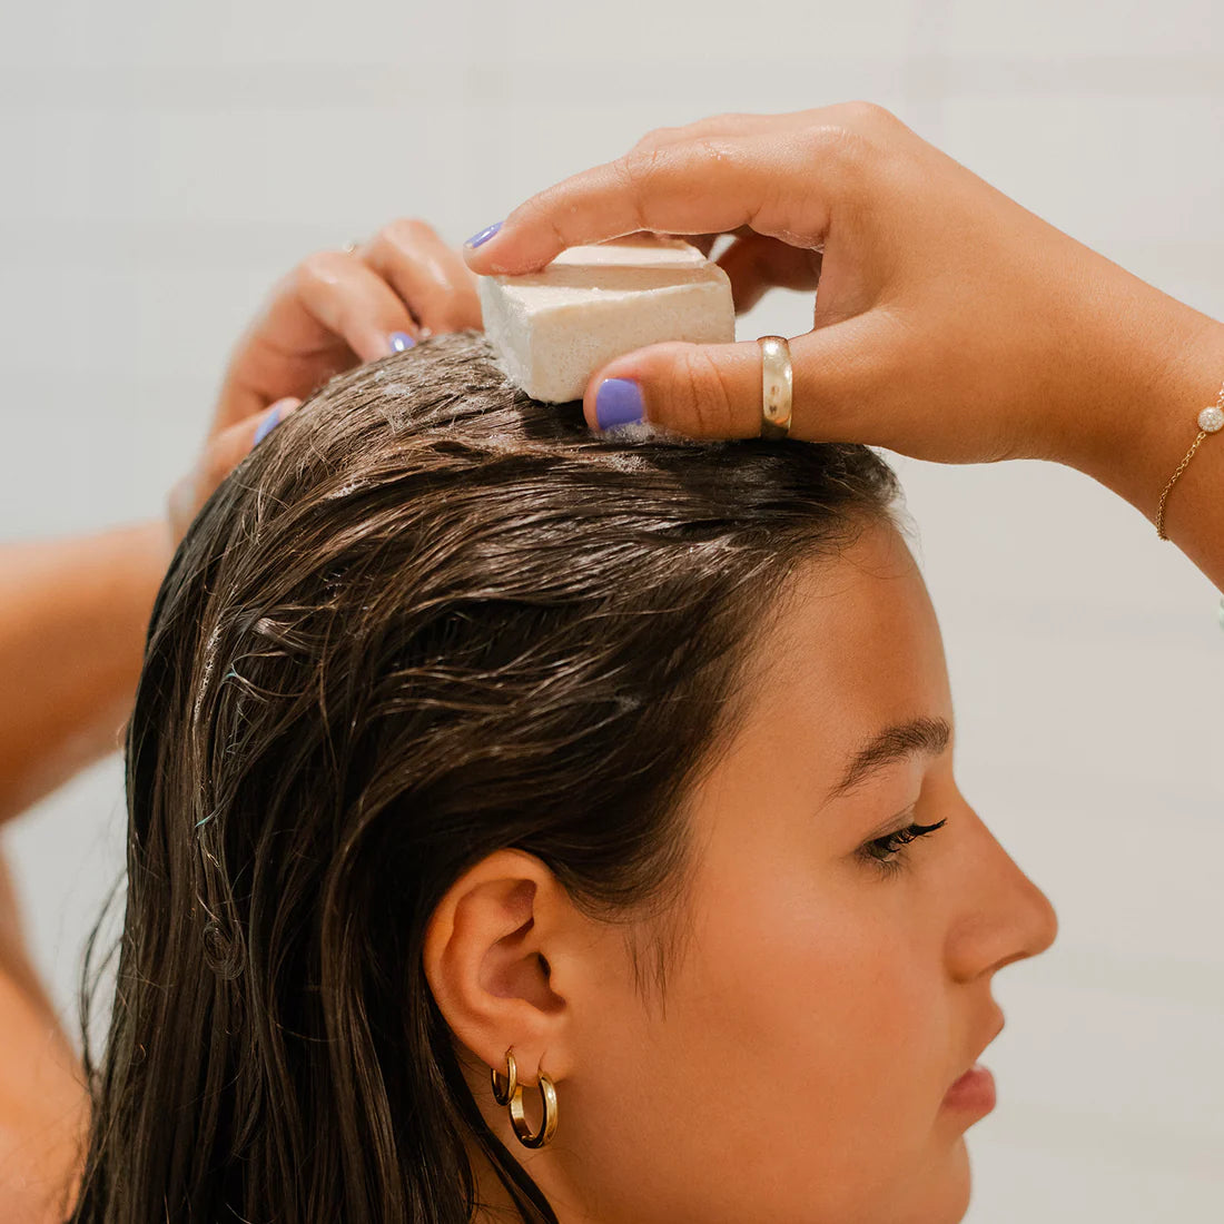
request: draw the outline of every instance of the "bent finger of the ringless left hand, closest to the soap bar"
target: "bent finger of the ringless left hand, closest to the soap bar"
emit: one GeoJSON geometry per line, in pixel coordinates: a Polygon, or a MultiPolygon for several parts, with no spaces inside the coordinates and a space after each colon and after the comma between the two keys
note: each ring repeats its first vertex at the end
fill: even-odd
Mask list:
{"type": "Polygon", "coordinates": [[[392,222],[356,253],[390,284],[422,328],[461,332],[481,327],[475,275],[426,222],[392,222]]]}

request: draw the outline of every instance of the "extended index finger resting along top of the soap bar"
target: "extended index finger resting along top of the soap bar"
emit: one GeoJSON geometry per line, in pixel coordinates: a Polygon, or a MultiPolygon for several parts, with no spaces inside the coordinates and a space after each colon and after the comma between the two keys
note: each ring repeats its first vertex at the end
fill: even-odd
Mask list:
{"type": "Polygon", "coordinates": [[[568,246],[635,230],[721,234],[741,225],[815,247],[840,193],[846,135],[825,126],[629,153],[534,196],[464,257],[477,273],[524,273],[568,246]]]}

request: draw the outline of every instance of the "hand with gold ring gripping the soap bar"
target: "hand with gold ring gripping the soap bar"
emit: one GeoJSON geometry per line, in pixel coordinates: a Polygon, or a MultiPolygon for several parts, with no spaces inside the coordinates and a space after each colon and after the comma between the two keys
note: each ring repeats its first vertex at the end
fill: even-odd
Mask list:
{"type": "MultiPolygon", "coordinates": [[[[718,262],[739,308],[772,285],[819,286],[813,329],[791,341],[804,441],[1078,465],[1122,432],[1118,414],[1151,409],[1204,322],[867,103],[652,132],[464,253],[475,272],[521,273],[636,230],[737,235],[718,262]]],[[[608,378],[681,433],[760,432],[755,343],[618,357],[588,387],[592,427],[608,378]]]]}

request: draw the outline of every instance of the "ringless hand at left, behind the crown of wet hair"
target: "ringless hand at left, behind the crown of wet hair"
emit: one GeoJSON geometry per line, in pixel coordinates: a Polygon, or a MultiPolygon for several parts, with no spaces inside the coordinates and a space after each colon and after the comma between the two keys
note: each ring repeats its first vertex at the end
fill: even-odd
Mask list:
{"type": "Polygon", "coordinates": [[[234,350],[200,461],[170,493],[174,542],[251,447],[333,375],[480,326],[476,278],[425,222],[392,222],[351,253],[307,256],[234,350]]]}

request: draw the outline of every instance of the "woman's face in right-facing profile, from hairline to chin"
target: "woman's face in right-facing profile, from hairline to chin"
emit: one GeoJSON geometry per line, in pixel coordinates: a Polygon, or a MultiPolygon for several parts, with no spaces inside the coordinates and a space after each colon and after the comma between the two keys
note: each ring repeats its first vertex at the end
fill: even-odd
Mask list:
{"type": "Polygon", "coordinates": [[[695,796],[665,989],[616,928],[569,976],[573,1071],[528,1166],[573,1218],[938,1224],[968,1202],[963,1135],[993,1094],[949,1089],[1002,1026],[995,971],[1056,919],[957,789],[900,534],[870,529],[796,595],[695,796]],[[890,843],[914,825],[941,827],[890,843]]]}

